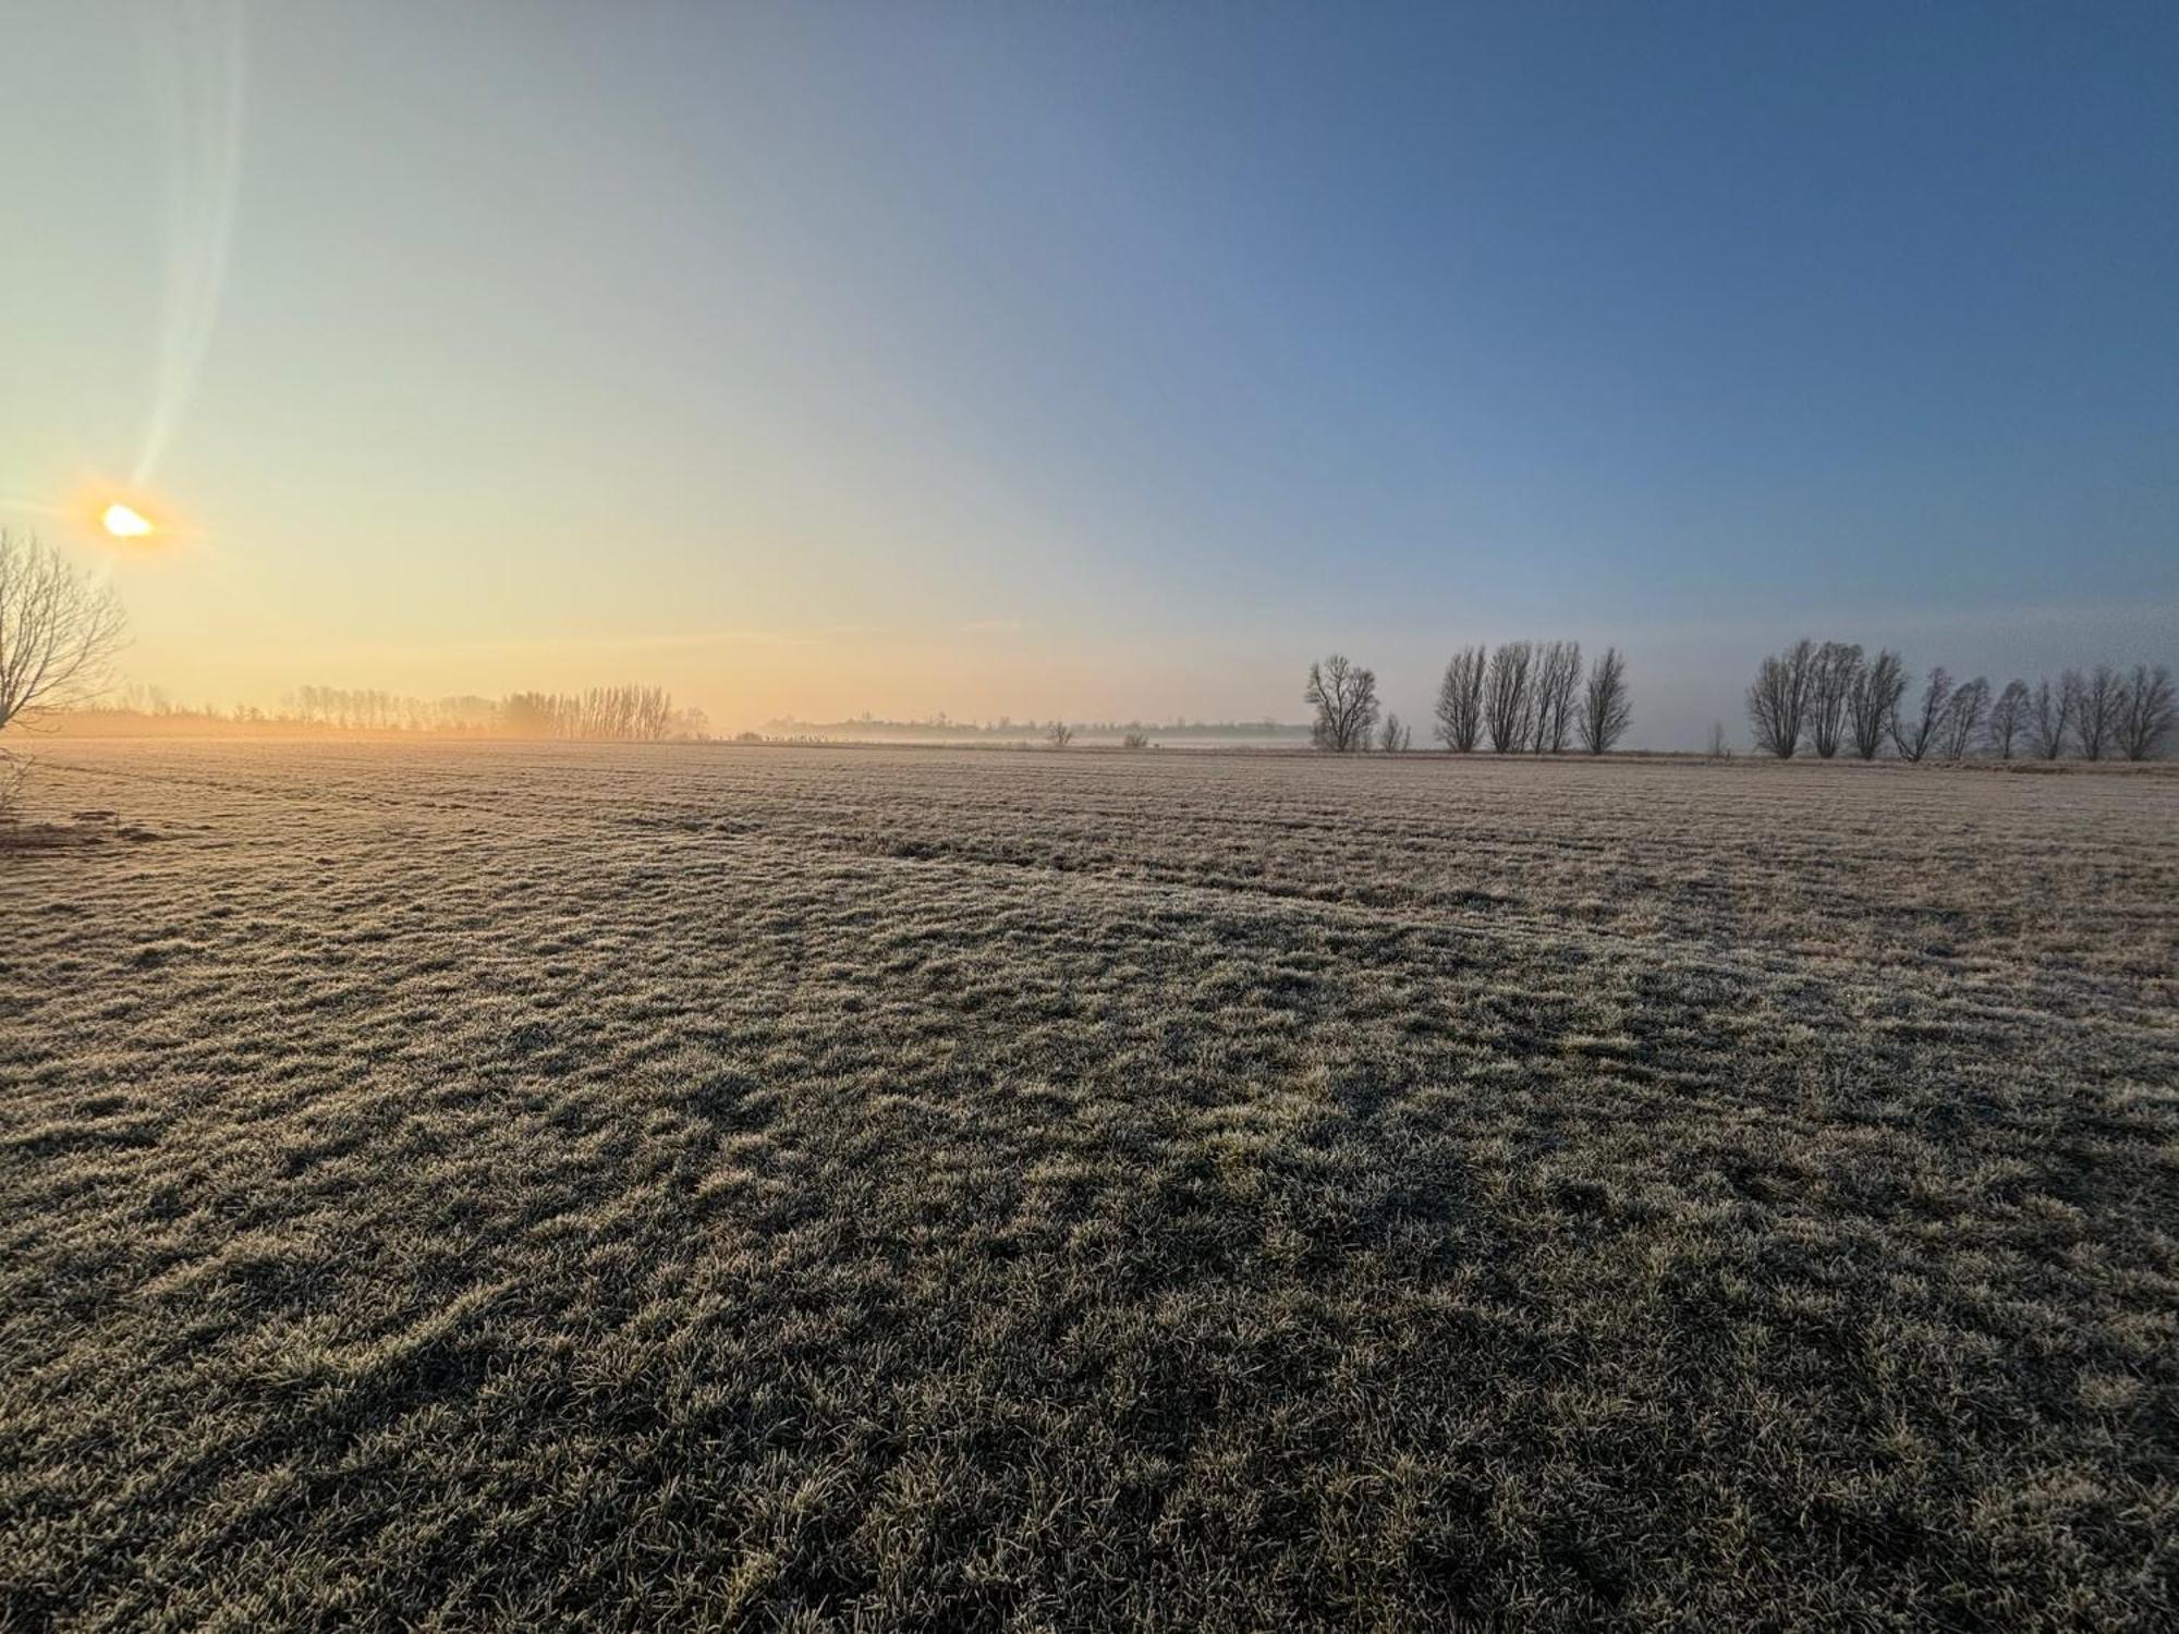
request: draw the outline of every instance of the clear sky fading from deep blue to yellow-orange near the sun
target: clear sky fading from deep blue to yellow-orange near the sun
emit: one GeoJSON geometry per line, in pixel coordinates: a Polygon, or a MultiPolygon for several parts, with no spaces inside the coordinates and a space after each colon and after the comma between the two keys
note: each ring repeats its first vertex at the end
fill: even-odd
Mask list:
{"type": "Polygon", "coordinates": [[[2179,662],[2179,7],[0,33],[0,525],[181,702],[1303,719],[1340,649],[1427,719],[1578,636],[1695,747],[1800,634],[2179,662]]]}

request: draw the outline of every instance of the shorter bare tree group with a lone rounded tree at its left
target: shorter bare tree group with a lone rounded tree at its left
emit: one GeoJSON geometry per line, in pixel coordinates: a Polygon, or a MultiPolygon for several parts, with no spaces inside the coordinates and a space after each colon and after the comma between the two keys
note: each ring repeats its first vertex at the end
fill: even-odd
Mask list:
{"type": "MultiPolygon", "coordinates": [[[[1414,743],[1397,715],[1379,725],[1377,673],[1331,654],[1310,664],[1303,702],[1316,712],[1310,743],[1331,754],[1399,752],[1414,743]]],[[[1438,741],[1456,754],[1608,754],[1634,723],[1628,664],[1606,647],[1582,669],[1578,641],[1506,641],[1462,647],[1438,682],[1438,741]]]]}

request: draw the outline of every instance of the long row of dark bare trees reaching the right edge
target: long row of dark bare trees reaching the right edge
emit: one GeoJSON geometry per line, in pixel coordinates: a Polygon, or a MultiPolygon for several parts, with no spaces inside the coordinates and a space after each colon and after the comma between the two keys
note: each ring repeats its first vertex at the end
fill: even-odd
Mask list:
{"type": "Polygon", "coordinates": [[[2172,678],[2162,664],[2068,669],[2053,686],[2009,680],[1992,693],[1976,675],[1955,682],[1937,664],[1907,704],[1907,664],[1896,651],[1863,656],[1843,641],[1795,641],[1756,669],[1748,725],[1756,749],[1789,760],[1806,749],[1830,760],[1885,752],[1900,760],[2148,760],[2172,732],[2172,678]]]}

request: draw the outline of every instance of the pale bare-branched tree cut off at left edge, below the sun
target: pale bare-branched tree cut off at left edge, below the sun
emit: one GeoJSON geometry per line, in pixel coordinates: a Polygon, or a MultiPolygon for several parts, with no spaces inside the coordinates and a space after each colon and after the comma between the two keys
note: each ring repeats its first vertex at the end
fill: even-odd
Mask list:
{"type": "MultiPolygon", "coordinates": [[[[96,693],[122,641],[122,603],[48,545],[0,529],[0,730],[96,693]]],[[[0,749],[0,804],[22,780],[0,749]]]]}

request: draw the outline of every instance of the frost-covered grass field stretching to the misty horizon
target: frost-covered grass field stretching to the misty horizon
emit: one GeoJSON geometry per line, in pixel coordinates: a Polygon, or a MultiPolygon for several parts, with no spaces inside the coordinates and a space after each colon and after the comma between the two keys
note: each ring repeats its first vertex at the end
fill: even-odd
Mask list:
{"type": "Polygon", "coordinates": [[[2179,1617],[2179,778],[41,756],[4,1627],[2179,1617]]]}

